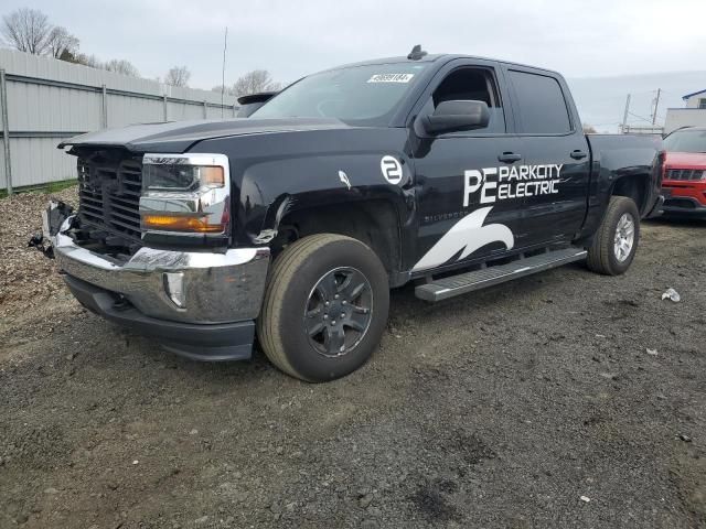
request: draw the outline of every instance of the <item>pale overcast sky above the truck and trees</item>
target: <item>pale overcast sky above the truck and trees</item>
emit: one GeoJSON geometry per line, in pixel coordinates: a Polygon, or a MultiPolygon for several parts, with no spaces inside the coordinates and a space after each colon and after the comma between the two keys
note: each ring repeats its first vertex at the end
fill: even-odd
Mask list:
{"type": "MultiPolygon", "coordinates": [[[[3,0],[31,7],[101,60],[126,58],[145,77],[184,64],[191,86],[226,84],[254,68],[277,80],[336,64],[464,53],[593,77],[706,69],[706,0],[3,0]]],[[[706,85],[706,79],[704,79],[706,85]]]]}

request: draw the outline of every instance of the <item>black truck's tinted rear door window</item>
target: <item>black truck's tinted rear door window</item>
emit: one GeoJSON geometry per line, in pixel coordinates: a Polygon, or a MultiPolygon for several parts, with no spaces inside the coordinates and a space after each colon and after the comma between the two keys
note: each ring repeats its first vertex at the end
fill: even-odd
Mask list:
{"type": "Polygon", "coordinates": [[[571,131],[561,87],[554,77],[510,71],[520,115],[518,132],[525,134],[561,134],[571,131]]]}

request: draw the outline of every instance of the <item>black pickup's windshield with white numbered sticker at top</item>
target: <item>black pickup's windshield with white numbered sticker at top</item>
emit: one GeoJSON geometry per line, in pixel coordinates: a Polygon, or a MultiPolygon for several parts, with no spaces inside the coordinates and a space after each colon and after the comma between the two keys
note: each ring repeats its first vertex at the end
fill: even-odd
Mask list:
{"type": "Polygon", "coordinates": [[[322,72],[277,95],[253,118],[338,118],[383,126],[419,80],[424,64],[368,64],[322,72]]]}

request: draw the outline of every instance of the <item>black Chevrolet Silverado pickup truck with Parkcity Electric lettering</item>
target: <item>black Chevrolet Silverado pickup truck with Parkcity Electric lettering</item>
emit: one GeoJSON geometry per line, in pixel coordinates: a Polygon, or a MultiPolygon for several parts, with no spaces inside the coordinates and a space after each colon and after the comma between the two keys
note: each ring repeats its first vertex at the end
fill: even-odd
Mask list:
{"type": "MultiPolygon", "coordinates": [[[[304,380],[363,365],[389,289],[435,302],[585,260],[624,272],[659,139],[585,136],[564,78],[460,55],[341,66],[247,119],[64,141],[79,207],[44,231],[74,295],[199,359],[304,380]]],[[[577,293],[579,295],[579,293],[577,293]]]]}

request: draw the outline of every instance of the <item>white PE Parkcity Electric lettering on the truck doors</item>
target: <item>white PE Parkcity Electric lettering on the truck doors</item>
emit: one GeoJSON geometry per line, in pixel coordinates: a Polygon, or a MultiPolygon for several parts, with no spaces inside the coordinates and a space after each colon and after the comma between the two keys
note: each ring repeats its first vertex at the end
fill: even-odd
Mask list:
{"type": "Polygon", "coordinates": [[[503,165],[472,169],[463,172],[463,207],[479,190],[480,203],[523,198],[525,196],[554,195],[558,193],[564,164],[503,165]]]}

